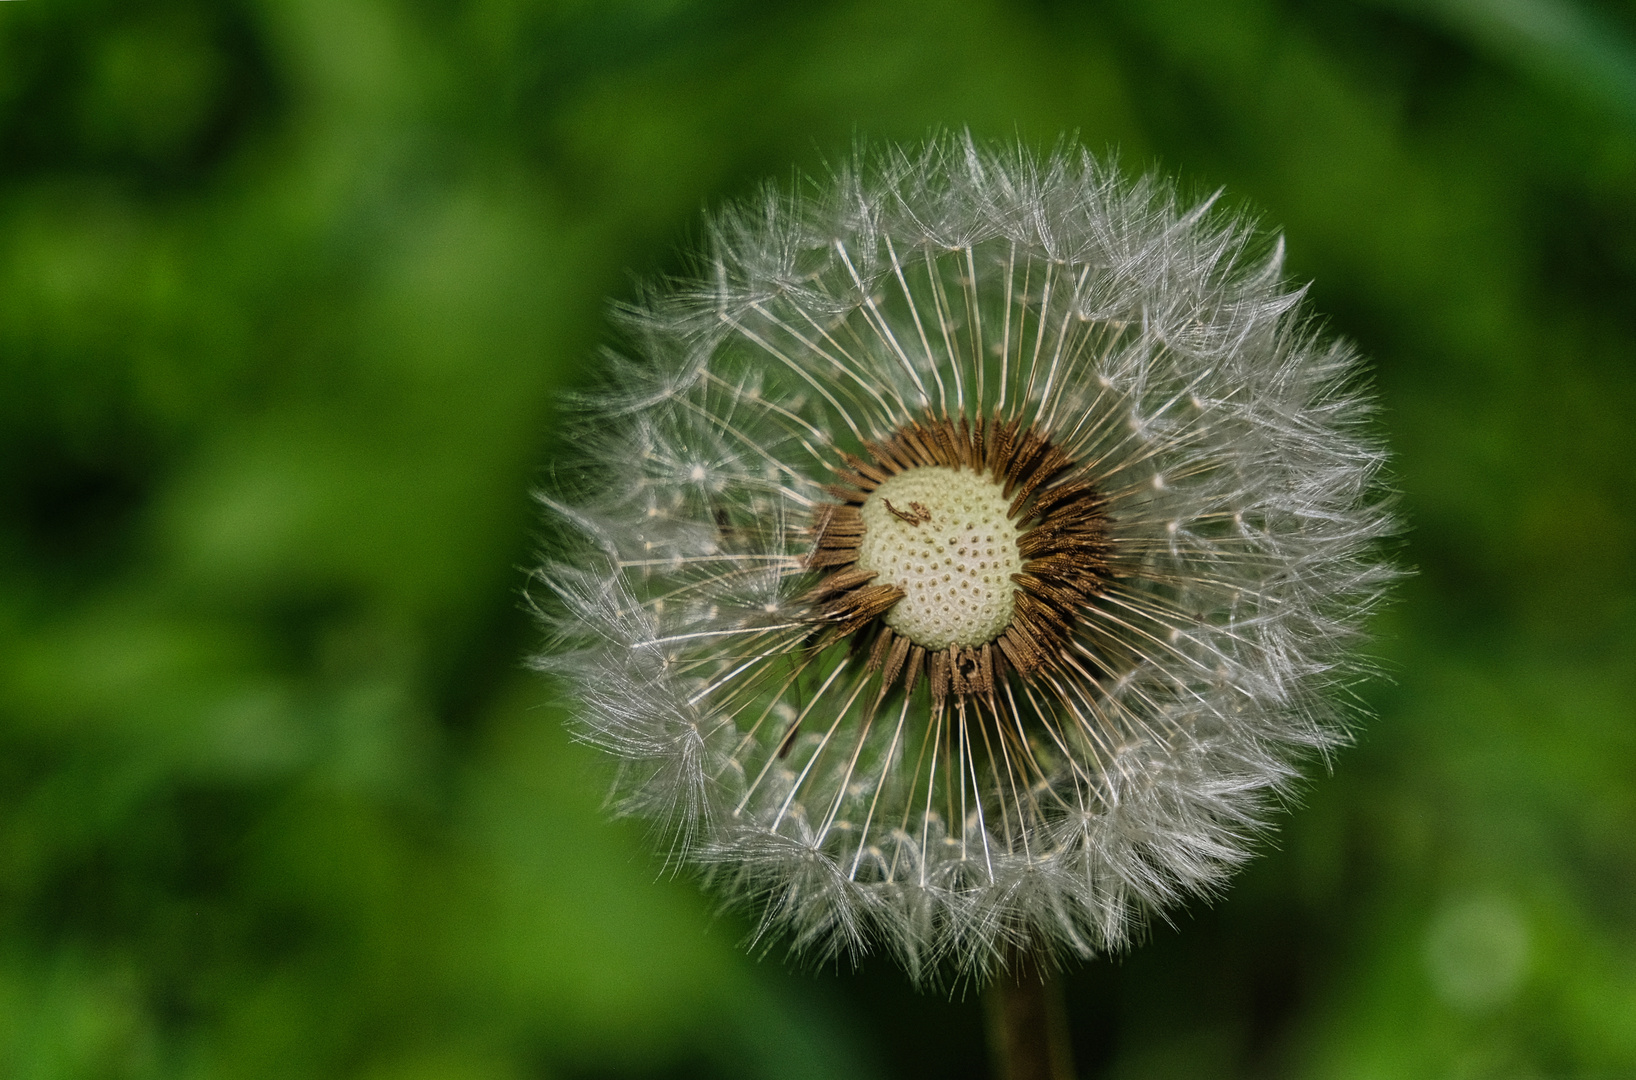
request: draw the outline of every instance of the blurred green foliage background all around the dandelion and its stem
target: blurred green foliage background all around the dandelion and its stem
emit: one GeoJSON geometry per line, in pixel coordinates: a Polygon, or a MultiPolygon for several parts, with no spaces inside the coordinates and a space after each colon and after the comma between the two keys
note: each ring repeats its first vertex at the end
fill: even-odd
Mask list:
{"type": "Polygon", "coordinates": [[[1636,1077],[1636,8],[0,3],[0,1077],[978,1077],[746,956],[520,669],[604,298],[933,128],[1225,187],[1376,358],[1418,569],[1088,1077],[1636,1077]]]}

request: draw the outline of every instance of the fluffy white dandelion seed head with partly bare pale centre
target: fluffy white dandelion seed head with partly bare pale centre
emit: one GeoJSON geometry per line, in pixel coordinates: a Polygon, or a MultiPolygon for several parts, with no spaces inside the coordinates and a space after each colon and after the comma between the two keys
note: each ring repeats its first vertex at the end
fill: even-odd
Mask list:
{"type": "Polygon", "coordinates": [[[1247,857],[1392,569],[1281,245],[1073,146],[717,214],[545,494],[538,666],[759,938],[918,982],[1130,941],[1247,857]]]}

